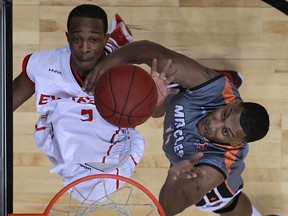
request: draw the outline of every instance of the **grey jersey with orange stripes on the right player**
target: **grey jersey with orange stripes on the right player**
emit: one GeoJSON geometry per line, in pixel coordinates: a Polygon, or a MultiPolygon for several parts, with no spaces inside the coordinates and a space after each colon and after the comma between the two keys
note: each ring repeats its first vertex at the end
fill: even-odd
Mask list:
{"type": "Polygon", "coordinates": [[[233,101],[241,101],[240,94],[221,75],[198,87],[170,95],[166,100],[163,134],[163,150],[171,165],[189,159],[197,152],[203,152],[203,157],[196,165],[211,166],[221,172],[227,186],[221,188],[221,192],[225,193],[223,196],[229,197],[242,188],[241,173],[248,145],[232,147],[207,141],[199,134],[197,123],[207,113],[233,101]]]}

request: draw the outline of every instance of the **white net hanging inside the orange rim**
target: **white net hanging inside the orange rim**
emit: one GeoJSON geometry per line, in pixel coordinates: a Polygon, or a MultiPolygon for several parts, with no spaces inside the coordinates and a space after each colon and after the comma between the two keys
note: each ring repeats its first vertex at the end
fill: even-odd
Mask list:
{"type": "MultiPolygon", "coordinates": [[[[111,179],[110,179],[111,180],[111,179]]],[[[113,179],[115,181],[115,179],[113,179]]],[[[120,181],[120,185],[125,182],[120,181]]],[[[49,212],[51,216],[86,215],[159,215],[157,206],[141,189],[125,183],[115,192],[109,192],[111,186],[107,178],[81,182],[64,193],[49,212]],[[91,184],[91,182],[92,184],[91,184]],[[94,181],[94,182],[93,182],[94,181]],[[81,192],[81,184],[89,184],[89,191],[81,192]],[[103,189],[99,192],[99,186],[103,189]],[[95,194],[97,198],[95,199],[95,194]],[[101,194],[100,196],[99,193],[101,194]],[[75,196],[78,200],[75,199],[75,196]],[[80,200],[80,201],[79,201],[80,200]]]]}

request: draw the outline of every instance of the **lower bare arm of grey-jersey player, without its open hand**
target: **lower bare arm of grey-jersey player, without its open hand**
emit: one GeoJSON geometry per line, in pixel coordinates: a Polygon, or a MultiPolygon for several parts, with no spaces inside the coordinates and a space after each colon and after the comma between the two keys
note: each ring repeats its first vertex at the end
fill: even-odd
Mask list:
{"type": "MultiPolygon", "coordinates": [[[[182,161],[181,161],[182,162],[182,161]]],[[[176,164],[177,165],[177,164],[176,164]]],[[[199,166],[205,174],[194,178],[173,178],[168,174],[159,201],[166,215],[175,215],[199,202],[205,194],[224,181],[223,175],[209,166],[199,166]]]]}

